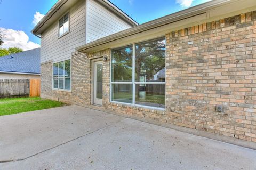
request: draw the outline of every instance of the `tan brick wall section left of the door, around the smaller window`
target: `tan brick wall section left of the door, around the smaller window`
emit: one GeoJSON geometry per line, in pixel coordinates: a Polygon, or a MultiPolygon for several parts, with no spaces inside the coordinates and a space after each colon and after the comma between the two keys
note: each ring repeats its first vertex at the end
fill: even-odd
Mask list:
{"type": "Polygon", "coordinates": [[[71,57],[71,91],[52,90],[52,61],[41,64],[41,97],[67,103],[91,104],[91,63],[85,53],[71,57]]]}

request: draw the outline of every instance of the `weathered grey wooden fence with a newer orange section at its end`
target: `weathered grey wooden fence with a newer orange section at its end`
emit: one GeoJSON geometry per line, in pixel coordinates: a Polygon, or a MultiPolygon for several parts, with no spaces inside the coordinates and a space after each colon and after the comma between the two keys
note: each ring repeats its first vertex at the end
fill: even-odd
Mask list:
{"type": "Polygon", "coordinates": [[[40,79],[0,79],[0,98],[40,96],[40,79]]]}

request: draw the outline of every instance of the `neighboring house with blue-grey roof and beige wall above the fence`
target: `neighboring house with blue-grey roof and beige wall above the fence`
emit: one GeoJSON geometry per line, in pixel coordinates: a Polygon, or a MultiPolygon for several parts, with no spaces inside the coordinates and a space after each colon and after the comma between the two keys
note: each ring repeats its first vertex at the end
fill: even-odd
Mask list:
{"type": "Polygon", "coordinates": [[[0,57],[0,79],[40,79],[40,48],[0,57]]]}

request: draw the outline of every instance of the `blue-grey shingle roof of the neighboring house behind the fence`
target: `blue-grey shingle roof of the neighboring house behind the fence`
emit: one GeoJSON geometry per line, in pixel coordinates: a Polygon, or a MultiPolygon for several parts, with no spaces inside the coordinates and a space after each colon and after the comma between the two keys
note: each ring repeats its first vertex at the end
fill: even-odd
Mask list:
{"type": "Polygon", "coordinates": [[[0,72],[40,74],[40,48],[0,57],[0,72]]]}

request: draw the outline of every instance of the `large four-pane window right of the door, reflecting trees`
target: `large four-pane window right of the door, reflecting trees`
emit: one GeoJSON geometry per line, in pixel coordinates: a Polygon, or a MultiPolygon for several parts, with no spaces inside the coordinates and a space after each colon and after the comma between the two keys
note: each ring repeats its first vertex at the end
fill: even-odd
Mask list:
{"type": "Polygon", "coordinates": [[[112,50],[111,101],[165,108],[165,38],[112,50]]]}

